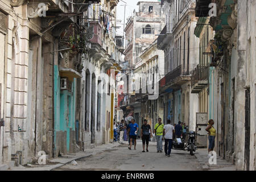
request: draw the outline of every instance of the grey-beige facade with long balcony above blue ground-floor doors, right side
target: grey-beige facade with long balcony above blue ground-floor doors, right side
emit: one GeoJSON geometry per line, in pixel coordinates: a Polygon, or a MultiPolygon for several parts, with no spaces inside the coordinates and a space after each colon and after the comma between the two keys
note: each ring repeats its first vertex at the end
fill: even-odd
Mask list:
{"type": "Polygon", "coordinates": [[[162,1],[166,26],[158,38],[158,48],[164,50],[165,76],[160,81],[164,97],[164,118],[172,123],[186,123],[196,129],[199,96],[191,94],[191,71],[198,63],[199,39],[196,28],[195,1],[162,1]]]}

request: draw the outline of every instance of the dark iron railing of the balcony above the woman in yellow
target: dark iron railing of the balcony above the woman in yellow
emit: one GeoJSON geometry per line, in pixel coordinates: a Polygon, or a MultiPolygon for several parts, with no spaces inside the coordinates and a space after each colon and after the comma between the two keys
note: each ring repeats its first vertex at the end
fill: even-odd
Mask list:
{"type": "Polygon", "coordinates": [[[191,73],[191,87],[195,86],[199,81],[208,80],[209,67],[205,64],[199,64],[191,73]]]}

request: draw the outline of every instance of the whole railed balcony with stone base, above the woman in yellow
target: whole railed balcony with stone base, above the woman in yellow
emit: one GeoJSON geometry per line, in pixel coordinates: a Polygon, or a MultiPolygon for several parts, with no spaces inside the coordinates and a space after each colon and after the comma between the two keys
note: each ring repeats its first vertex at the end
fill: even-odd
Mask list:
{"type": "Polygon", "coordinates": [[[207,65],[197,65],[191,75],[191,93],[200,93],[205,86],[208,86],[209,67],[207,65]]]}

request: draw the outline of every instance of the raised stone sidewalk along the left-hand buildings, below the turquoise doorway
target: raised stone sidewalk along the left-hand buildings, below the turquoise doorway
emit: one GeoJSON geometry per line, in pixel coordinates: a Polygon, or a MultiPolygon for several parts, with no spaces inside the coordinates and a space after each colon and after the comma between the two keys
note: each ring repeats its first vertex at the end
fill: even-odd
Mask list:
{"type": "Polygon", "coordinates": [[[103,144],[94,148],[86,148],[84,152],[80,151],[76,154],[65,155],[55,159],[49,159],[47,160],[47,164],[43,166],[39,164],[28,164],[28,166],[11,167],[8,169],[8,171],[52,171],[56,168],[65,166],[65,164],[71,163],[73,160],[88,158],[89,156],[96,155],[100,152],[109,150],[119,145],[120,144],[118,142],[103,144]]]}

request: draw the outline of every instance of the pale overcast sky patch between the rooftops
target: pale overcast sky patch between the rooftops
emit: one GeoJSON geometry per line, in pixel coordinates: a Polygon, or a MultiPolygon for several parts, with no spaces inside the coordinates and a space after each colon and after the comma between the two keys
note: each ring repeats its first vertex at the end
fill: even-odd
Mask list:
{"type": "MultiPolygon", "coordinates": [[[[155,1],[157,2],[158,0],[142,0],[142,1],[155,1]]],[[[121,23],[118,22],[117,26],[121,26],[120,28],[117,29],[117,35],[123,35],[123,18],[125,15],[125,23],[127,22],[127,18],[133,14],[133,10],[135,9],[138,11],[138,6],[137,3],[138,0],[119,0],[119,3],[117,5],[117,20],[121,20],[121,23]],[[126,3],[124,3],[125,1],[126,3]],[[124,5],[127,5],[126,8],[124,5]],[[126,10],[126,11],[125,11],[126,10]]]]}

